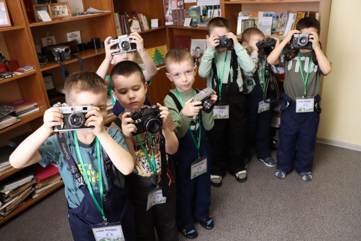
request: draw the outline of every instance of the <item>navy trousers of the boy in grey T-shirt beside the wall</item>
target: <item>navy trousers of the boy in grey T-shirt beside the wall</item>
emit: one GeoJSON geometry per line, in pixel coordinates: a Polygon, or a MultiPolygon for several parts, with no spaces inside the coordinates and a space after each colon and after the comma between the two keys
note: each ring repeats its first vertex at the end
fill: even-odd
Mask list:
{"type": "MultiPolygon", "coordinates": [[[[320,97],[317,95],[315,103],[319,101],[320,97]]],[[[298,173],[310,172],[321,110],[317,104],[313,112],[296,113],[296,102],[285,93],[281,111],[277,169],[286,173],[293,168],[298,173]]]]}

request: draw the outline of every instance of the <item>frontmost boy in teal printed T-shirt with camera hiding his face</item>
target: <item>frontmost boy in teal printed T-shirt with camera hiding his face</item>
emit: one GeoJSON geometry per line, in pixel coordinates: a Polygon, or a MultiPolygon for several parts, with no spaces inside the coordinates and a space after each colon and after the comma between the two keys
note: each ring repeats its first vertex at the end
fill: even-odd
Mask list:
{"type": "Polygon", "coordinates": [[[58,164],[75,240],[95,240],[92,225],[109,222],[107,226],[112,226],[119,221],[125,239],[135,240],[134,209],[123,177],[133,170],[133,159],[120,132],[114,128],[106,131],[103,126],[107,95],[104,80],[94,72],[77,72],[67,78],[64,89],[68,104],[93,104],[85,115],[85,126],[94,129],[51,136],[53,127],[64,123],[62,111],[51,107],[45,111],[43,126],[20,144],[10,163],[15,168],[37,162],[43,167],[51,162],[58,164]]]}

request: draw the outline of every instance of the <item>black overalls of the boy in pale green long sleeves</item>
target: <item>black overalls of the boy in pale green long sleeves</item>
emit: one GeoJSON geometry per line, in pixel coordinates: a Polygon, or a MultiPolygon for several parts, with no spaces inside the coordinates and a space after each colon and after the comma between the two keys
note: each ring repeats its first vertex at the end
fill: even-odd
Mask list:
{"type": "Polygon", "coordinates": [[[224,176],[227,166],[232,174],[245,170],[246,98],[239,91],[237,83],[231,84],[227,101],[230,117],[215,119],[214,128],[207,132],[212,154],[212,174],[219,176],[224,176]]]}

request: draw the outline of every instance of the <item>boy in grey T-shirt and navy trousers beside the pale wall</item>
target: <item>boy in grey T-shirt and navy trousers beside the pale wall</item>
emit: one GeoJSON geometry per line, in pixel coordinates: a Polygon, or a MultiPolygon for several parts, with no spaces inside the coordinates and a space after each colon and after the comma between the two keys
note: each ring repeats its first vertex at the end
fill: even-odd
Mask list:
{"type": "Polygon", "coordinates": [[[320,24],[317,20],[303,18],[297,23],[296,29],[290,31],[267,57],[270,64],[285,67],[276,177],[284,179],[294,166],[302,180],[309,182],[312,179],[315,139],[321,112],[319,77],[320,74],[331,72],[331,63],[323,54],[318,41],[320,24]],[[308,44],[312,43],[312,49],[301,48],[290,56],[281,54],[292,36],[298,33],[308,34],[308,44]]]}

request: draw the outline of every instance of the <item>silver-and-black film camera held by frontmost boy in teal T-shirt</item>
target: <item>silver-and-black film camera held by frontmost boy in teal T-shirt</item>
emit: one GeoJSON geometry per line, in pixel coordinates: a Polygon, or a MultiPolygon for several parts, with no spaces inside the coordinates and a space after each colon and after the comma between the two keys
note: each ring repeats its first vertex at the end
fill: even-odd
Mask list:
{"type": "Polygon", "coordinates": [[[62,126],[55,126],[54,132],[93,129],[93,126],[84,126],[87,120],[85,115],[90,111],[91,106],[91,104],[82,106],[64,106],[60,104],[54,104],[53,107],[59,108],[64,115],[64,124],[62,126]]]}

